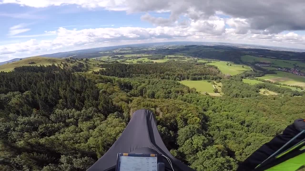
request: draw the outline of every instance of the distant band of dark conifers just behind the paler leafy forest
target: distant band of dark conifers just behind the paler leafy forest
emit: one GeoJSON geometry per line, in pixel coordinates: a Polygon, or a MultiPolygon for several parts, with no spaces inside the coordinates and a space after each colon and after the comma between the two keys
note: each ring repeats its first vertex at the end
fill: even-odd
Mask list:
{"type": "Polygon", "coordinates": [[[172,79],[176,81],[192,80],[216,80],[224,75],[220,70],[211,65],[205,65],[203,62],[183,62],[169,61],[164,63],[143,63],[143,64],[101,64],[99,72],[95,74],[116,76],[116,77],[138,77],[141,75],[150,75],[160,79],[172,79]]]}

